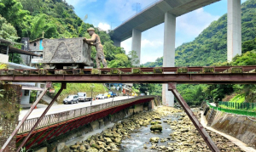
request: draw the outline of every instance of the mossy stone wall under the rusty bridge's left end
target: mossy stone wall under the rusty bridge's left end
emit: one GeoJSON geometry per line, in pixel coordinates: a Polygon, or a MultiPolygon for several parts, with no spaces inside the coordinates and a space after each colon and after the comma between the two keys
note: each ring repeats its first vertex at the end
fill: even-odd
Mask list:
{"type": "MultiPolygon", "coordinates": [[[[20,85],[0,84],[0,148],[18,124],[20,114],[20,85]]],[[[15,151],[14,137],[4,152],[15,151]]]]}

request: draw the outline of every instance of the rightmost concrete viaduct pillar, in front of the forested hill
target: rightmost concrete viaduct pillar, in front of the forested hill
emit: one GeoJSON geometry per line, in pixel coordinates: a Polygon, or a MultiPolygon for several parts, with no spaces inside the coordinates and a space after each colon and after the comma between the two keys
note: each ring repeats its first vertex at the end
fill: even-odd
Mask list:
{"type": "Polygon", "coordinates": [[[228,0],[228,62],[241,54],[241,0],[228,0]]]}

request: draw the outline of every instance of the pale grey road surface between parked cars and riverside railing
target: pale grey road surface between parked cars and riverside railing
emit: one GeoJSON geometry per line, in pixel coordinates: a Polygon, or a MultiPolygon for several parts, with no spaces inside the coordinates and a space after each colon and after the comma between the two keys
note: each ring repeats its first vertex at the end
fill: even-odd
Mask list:
{"type": "MultiPolygon", "coordinates": [[[[131,99],[131,98],[134,98],[134,97],[129,96],[129,99],[131,99]]],[[[123,99],[128,99],[128,96],[119,96],[119,97],[115,97],[113,99],[112,98],[111,99],[96,99],[96,100],[92,101],[92,105],[104,104],[104,103],[112,102],[112,100],[113,101],[119,101],[119,100],[123,100],[123,99]]],[[[47,112],[46,115],[65,112],[67,110],[76,110],[76,109],[89,107],[89,106],[90,106],[90,101],[79,102],[79,104],[54,104],[49,109],[49,111],[47,112]]],[[[39,117],[40,115],[43,114],[45,109],[46,109],[46,107],[33,110],[32,113],[28,116],[27,119],[39,117]]],[[[28,110],[21,110],[20,111],[19,121],[22,120],[22,118],[26,115],[27,111],[28,110]]]]}

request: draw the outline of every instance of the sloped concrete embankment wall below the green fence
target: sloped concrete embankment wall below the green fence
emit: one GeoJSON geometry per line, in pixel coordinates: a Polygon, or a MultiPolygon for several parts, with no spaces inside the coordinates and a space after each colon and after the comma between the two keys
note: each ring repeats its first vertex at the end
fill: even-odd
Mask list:
{"type": "MultiPolygon", "coordinates": [[[[207,108],[205,107],[205,110],[207,108]]],[[[204,113],[209,127],[241,140],[249,147],[256,148],[256,120],[245,115],[234,115],[212,109],[204,113]],[[211,112],[213,115],[211,115],[211,112]]]]}

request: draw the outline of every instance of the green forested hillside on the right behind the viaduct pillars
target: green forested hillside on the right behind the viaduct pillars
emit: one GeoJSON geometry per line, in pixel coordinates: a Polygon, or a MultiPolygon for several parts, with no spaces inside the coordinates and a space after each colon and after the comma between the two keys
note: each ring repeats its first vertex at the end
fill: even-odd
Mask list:
{"type": "MultiPolygon", "coordinates": [[[[213,21],[192,42],[176,48],[176,66],[208,65],[256,65],[256,0],[247,0],[241,5],[242,54],[228,64],[227,60],[227,14],[213,21]]],[[[162,66],[163,58],[148,62],[143,66],[162,66]]],[[[200,103],[202,99],[224,99],[225,95],[240,93],[247,102],[256,99],[254,85],[178,85],[178,91],[189,104],[200,103]]],[[[161,89],[161,88],[160,88],[161,89]]]]}

